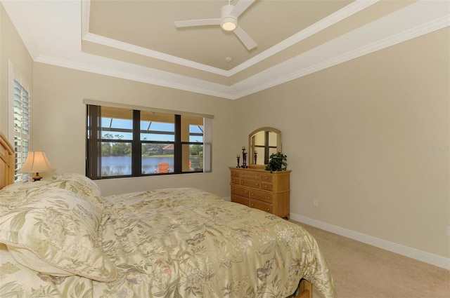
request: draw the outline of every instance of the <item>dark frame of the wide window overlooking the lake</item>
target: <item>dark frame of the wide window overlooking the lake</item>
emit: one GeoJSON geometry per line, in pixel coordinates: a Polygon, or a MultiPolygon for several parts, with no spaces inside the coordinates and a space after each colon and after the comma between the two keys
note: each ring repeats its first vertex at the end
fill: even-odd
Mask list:
{"type": "MultiPolygon", "coordinates": [[[[154,175],[174,175],[174,174],[191,174],[194,172],[211,172],[211,161],[205,161],[206,158],[210,158],[210,152],[208,154],[203,154],[203,171],[198,170],[188,170],[184,171],[183,168],[183,146],[191,145],[191,144],[199,144],[199,142],[191,142],[190,137],[188,137],[188,141],[181,141],[181,118],[182,112],[177,111],[168,111],[168,110],[158,110],[159,112],[170,114],[174,116],[174,133],[170,132],[158,132],[158,130],[152,131],[152,133],[163,133],[163,134],[174,134],[174,141],[159,141],[159,140],[141,140],[141,133],[150,132],[151,130],[141,130],[141,111],[149,111],[150,108],[139,109],[139,107],[122,105],[122,104],[102,104],[99,105],[98,102],[85,102],[86,103],[86,176],[90,177],[93,180],[101,180],[101,179],[115,179],[122,177],[146,177],[146,176],[154,176],[154,175]],[[117,107],[119,105],[120,107],[117,107]],[[132,109],[132,119],[133,119],[133,128],[132,132],[132,140],[103,140],[102,139],[102,116],[101,109],[102,107],[115,107],[115,108],[123,108],[123,109],[132,109]],[[91,127],[89,126],[91,123],[91,127]],[[94,128],[95,127],[95,128],[94,128]],[[101,167],[101,144],[102,142],[130,142],[131,143],[131,174],[129,175],[112,175],[112,176],[102,176],[102,167],[101,167]],[[160,172],[142,172],[142,147],[144,144],[174,144],[174,168],[172,172],[160,173],[160,172]],[[207,165],[205,167],[205,165],[207,165]]],[[[152,109],[153,110],[153,109],[152,109]]],[[[192,115],[189,113],[189,116],[196,116],[198,118],[203,118],[203,151],[205,151],[205,147],[207,149],[211,149],[211,145],[208,144],[205,146],[206,140],[211,140],[211,131],[207,131],[205,129],[205,124],[208,123],[208,127],[211,128],[211,117],[205,117],[203,115],[192,115]],[[209,136],[206,137],[206,135],[209,136]]],[[[117,128],[114,129],[117,131],[117,128]]],[[[122,130],[120,128],[119,130],[122,130]]],[[[124,129],[129,131],[129,129],[124,129]]],[[[189,136],[191,133],[189,133],[189,136]]],[[[193,135],[200,135],[199,133],[193,133],[193,135]]]]}

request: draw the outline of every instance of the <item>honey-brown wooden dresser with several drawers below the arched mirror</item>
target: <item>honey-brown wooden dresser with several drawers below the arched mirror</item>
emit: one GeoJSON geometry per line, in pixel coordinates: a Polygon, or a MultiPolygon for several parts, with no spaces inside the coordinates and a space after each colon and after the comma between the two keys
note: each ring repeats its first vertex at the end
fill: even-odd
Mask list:
{"type": "Polygon", "coordinates": [[[231,168],[231,201],[289,219],[290,170],[231,168]]]}

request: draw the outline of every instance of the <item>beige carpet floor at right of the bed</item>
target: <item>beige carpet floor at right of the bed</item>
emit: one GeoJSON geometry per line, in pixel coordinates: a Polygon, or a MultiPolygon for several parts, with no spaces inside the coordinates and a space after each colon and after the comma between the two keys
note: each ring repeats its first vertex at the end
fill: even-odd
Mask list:
{"type": "MultiPolygon", "coordinates": [[[[300,225],[316,238],[325,255],[338,298],[450,297],[450,271],[446,269],[300,225]]],[[[323,297],[316,290],[313,294],[323,297]]]]}

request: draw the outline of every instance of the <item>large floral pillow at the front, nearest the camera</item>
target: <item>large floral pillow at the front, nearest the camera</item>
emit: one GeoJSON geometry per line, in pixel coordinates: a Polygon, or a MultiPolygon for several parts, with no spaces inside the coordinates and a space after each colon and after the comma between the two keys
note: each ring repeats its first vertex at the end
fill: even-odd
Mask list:
{"type": "Polygon", "coordinates": [[[34,271],[113,281],[117,271],[97,234],[101,217],[101,208],[86,198],[44,187],[0,217],[0,243],[34,271]]]}

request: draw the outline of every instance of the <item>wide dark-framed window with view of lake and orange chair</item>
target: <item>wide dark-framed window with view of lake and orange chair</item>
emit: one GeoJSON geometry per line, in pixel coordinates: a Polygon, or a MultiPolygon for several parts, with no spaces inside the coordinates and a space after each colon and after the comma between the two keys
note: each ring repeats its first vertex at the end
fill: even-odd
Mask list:
{"type": "Polygon", "coordinates": [[[210,172],[211,118],[114,105],[87,104],[86,176],[210,172]]]}

